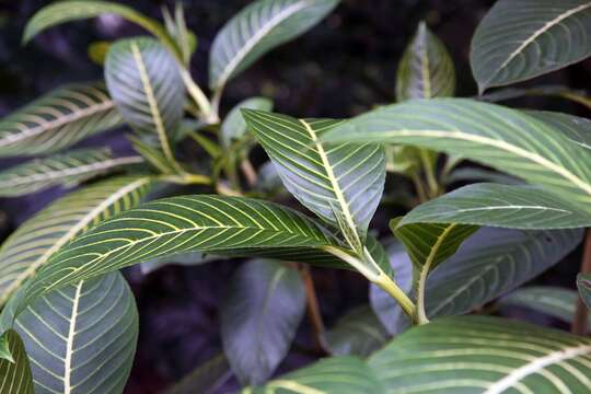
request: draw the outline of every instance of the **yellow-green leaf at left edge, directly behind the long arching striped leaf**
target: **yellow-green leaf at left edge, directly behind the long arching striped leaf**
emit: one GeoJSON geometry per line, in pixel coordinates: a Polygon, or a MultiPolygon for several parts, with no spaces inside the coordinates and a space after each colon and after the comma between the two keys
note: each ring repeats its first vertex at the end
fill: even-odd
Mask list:
{"type": "Polygon", "coordinates": [[[149,177],[121,176],[71,193],[24,222],[0,247],[0,305],[76,235],[139,204],[149,177]]]}

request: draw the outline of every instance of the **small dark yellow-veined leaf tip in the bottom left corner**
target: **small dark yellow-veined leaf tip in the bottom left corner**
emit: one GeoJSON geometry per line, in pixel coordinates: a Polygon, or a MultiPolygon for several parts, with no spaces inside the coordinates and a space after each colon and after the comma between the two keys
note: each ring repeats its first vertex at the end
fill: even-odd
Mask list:
{"type": "Polygon", "coordinates": [[[12,360],[0,359],[0,392],[2,394],[34,394],[31,367],[23,341],[14,331],[2,335],[2,346],[10,349],[12,360]]]}

